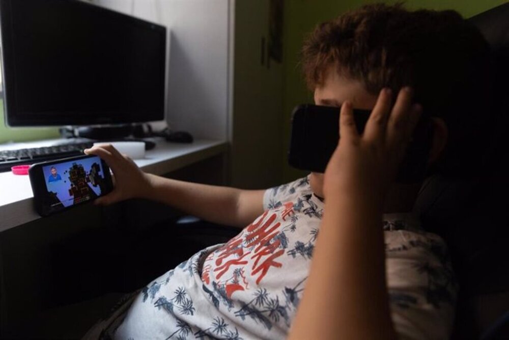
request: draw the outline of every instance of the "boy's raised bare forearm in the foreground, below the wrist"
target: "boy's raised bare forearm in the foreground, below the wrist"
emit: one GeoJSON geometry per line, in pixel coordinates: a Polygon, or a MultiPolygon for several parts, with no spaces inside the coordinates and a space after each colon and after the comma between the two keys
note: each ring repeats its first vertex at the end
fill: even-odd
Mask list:
{"type": "Polygon", "coordinates": [[[308,336],[394,338],[378,204],[352,196],[326,200],[312,268],[291,332],[292,339],[308,336]]]}

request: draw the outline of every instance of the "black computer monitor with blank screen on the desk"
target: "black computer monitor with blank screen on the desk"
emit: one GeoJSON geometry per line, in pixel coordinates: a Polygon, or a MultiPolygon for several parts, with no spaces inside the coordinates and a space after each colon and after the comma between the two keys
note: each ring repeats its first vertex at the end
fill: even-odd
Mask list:
{"type": "Polygon", "coordinates": [[[164,118],[166,29],[78,0],[0,0],[7,122],[164,118]]]}

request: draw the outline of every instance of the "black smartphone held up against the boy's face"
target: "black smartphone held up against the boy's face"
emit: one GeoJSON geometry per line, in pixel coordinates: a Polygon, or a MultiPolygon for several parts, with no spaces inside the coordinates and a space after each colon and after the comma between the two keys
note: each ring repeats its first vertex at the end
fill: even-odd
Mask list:
{"type": "MultiPolygon", "coordinates": [[[[341,138],[338,131],[340,110],[338,107],[313,104],[302,104],[294,109],[288,153],[288,161],[292,167],[325,172],[327,163],[341,138]]],[[[364,132],[370,114],[371,110],[353,110],[359,134],[364,132]]],[[[422,115],[398,173],[398,182],[417,182],[426,176],[431,132],[429,118],[422,115]]]]}

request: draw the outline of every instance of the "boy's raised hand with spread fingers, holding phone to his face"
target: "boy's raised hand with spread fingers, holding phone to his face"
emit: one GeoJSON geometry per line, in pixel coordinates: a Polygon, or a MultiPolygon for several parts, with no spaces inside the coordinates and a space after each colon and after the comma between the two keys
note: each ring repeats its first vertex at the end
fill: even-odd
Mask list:
{"type": "Polygon", "coordinates": [[[343,103],[341,138],[324,175],[326,199],[348,193],[383,204],[422,112],[419,104],[412,105],[410,88],[401,89],[394,106],[391,104],[390,89],[382,89],[364,133],[359,135],[352,104],[343,103]]]}

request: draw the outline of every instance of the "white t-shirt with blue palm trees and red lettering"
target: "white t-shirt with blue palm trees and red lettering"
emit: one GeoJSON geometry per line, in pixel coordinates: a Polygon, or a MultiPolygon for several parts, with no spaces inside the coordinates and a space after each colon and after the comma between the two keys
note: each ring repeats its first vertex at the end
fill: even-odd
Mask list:
{"type": "MultiPolygon", "coordinates": [[[[238,236],[149,283],[89,336],[285,338],[306,284],[324,204],[304,177],[267,190],[263,205],[263,215],[238,236]]],[[[384,234],[395,329],[401,338],[448,338],[457,286],[444,242],[422,231],[411,215],[384,215],[384,234]]],[[[334,282],[330,289],[336,289],[334,282]]]]}

